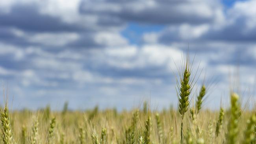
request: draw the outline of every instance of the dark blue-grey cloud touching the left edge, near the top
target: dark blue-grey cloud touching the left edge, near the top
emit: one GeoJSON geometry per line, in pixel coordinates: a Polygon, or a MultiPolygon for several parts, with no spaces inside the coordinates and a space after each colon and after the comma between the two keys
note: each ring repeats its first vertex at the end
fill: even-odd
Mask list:
{"type": "Polygon", "coordinates": [[[1,26],[15,27],[24,31],[81,31],[81,26],[67,24],[59,17],[43,15],[33,4],[14,5],[9,13],[0,13],[1,26]]]}

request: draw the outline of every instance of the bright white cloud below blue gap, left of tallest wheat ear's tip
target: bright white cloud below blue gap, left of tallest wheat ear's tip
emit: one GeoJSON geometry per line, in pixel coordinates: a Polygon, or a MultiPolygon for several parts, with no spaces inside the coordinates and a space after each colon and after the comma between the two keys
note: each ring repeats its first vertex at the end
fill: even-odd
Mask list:
{"type": "MultiPolygon", "coordinates": [[[[129,47],[128,47],[129,48],[129,47]]],[[[117,68],[124,69],[135,69],[135,68],[147,68],[151,66],[164,66],[166,69],[174,67],[174,62],[180,63],[181,55],[183,52],[178,50],[178,48],[172,46],[165,46],[161,44],[147,44],[141,47],[133,47],[132,50],[132,59],[129,57],[106,57],[104,63],[107,63],[109,66],[114,66],[117,68]],[[135,48],[137,50],[135,50],[135,48]],[[136,55],[134,55],[136,52],[136,55]]],[[[120,48],[122,50],[122,48],[120,48]]],[[[124,53],[126,50],[124,49],[124,53]]],[[[109,54],[109,52],[107,52],[109,54]]],[[[112,53],[113,54],[113,53],[112,53]]],[[[115,52],[115,55],[118,55],[118,52],[115,52]]],[[[128,53],[129,55],[129,53],[128,53]]]]}

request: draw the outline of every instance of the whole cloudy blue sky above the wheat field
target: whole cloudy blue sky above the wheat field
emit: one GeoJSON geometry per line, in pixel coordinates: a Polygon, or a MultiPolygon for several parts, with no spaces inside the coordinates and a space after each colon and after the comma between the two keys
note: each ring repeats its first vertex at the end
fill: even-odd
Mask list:
{"type": "MultiPolygon", "coordinates": [[[[13,109],[177,106],[189,48],[194,102],[253,102],[256,0],[0,0],[0,80],[13,109]],[[198,69],[198,71],[196,71],[198,69]],[[239,77],[239,78],[238,78],[239,77]]],[[[3,90],[1,90],[3,92],[3,90]]]]}

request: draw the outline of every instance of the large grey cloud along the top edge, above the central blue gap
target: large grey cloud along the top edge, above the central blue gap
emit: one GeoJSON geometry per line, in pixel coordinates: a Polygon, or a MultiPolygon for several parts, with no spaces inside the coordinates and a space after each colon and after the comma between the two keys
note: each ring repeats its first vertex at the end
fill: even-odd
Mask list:
{"type": "MultiPolygon", "coordinates": [[[[125,22],[149,24],[200,24],[218,18],[218,2],[182,0],[83,0],[83,14],[104,15],[125,22]]],[[[113,21],[115,22],[115,21],[113,21]]]]}

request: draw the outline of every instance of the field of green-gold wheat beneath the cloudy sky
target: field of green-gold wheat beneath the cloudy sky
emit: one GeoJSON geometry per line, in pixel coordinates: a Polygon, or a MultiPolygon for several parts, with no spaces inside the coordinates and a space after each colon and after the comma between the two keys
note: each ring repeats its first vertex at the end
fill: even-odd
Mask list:
{"type": "MultiPolygon", "coordinates": [[[[1,109],[1,144],[255,144],[256,116],[241,107],[239,95],[230,92],[228,109],[202,109],[208,87],[202,85],[191,100],[196,82],[189,56],[177,79],[178,108],[155,111],[147,102],[142,108],[117,112],[62,112],[47,106],[38,111],[1,109]]],[[[6,100],[5,100],[6,101],[6,100]]]]}

